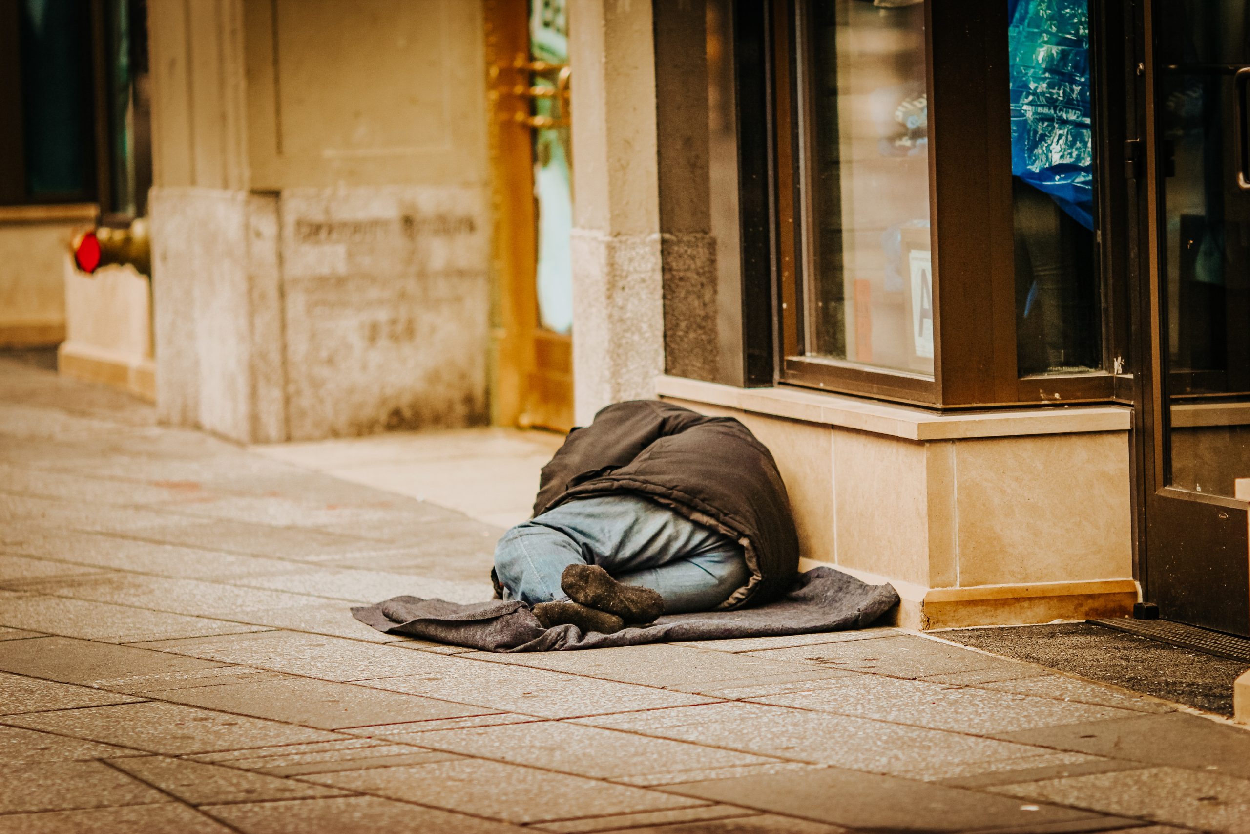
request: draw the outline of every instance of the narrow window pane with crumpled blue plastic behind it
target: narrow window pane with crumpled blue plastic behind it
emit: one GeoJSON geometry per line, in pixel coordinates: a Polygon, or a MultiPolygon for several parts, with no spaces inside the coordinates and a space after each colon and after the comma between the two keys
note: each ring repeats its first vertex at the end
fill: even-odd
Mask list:
{"type": "Polygon", "coordinates": [[[1101,366],[1088,0],[1006,0],[1020,375],[1101,366]]]}

